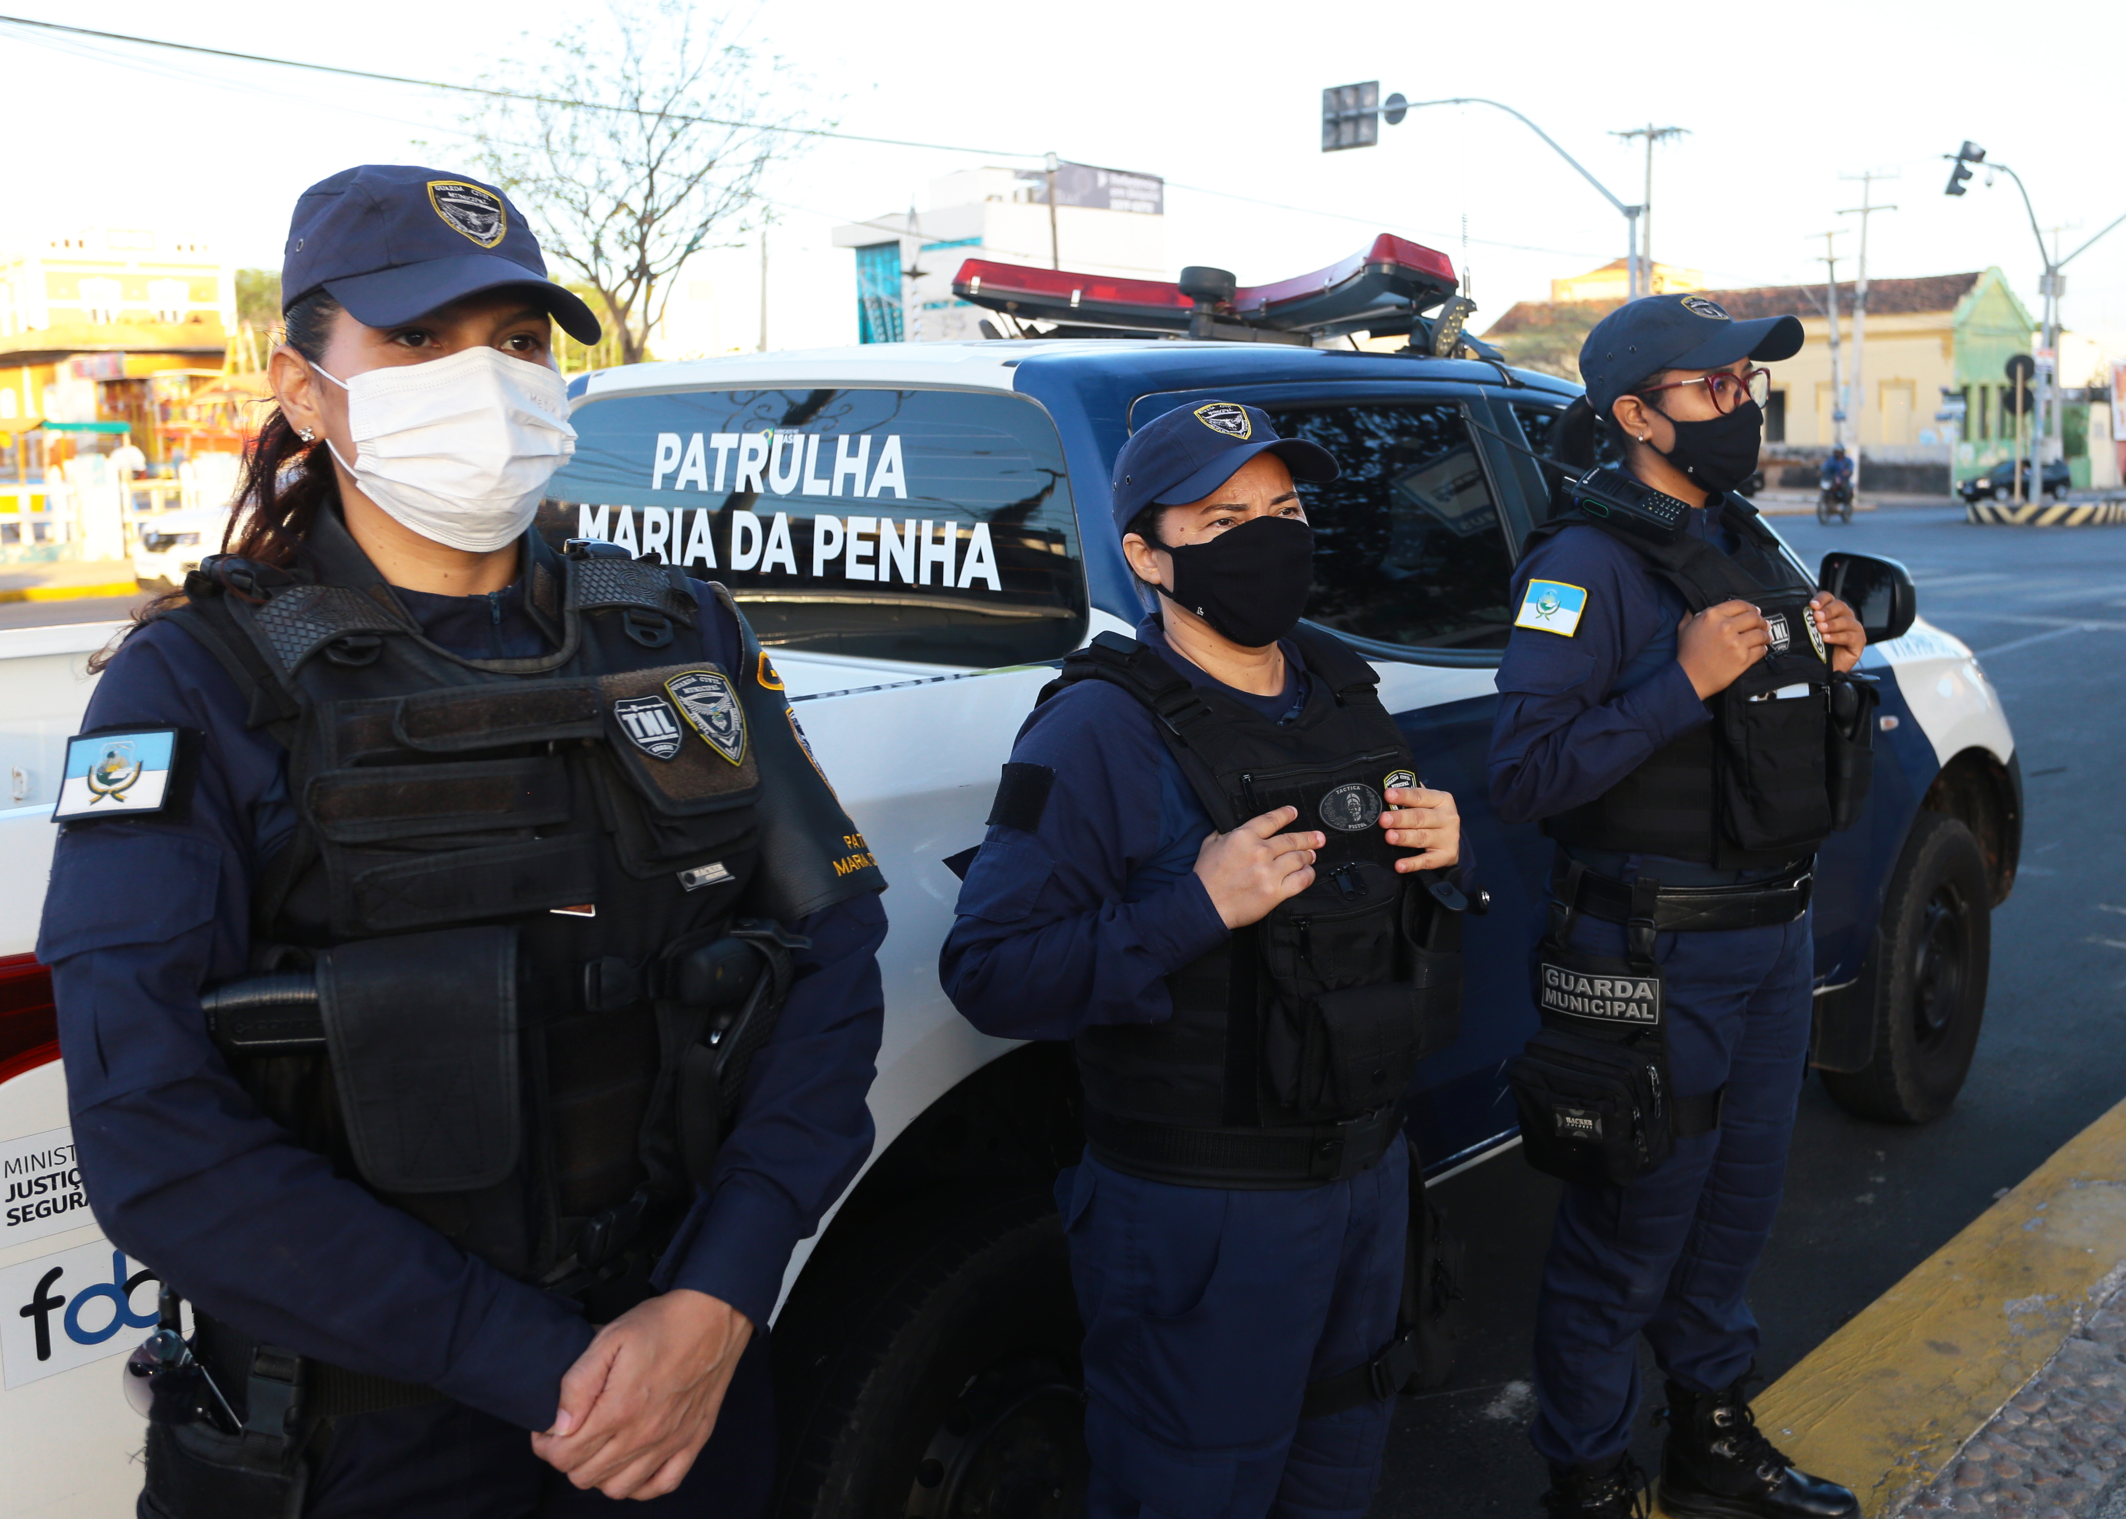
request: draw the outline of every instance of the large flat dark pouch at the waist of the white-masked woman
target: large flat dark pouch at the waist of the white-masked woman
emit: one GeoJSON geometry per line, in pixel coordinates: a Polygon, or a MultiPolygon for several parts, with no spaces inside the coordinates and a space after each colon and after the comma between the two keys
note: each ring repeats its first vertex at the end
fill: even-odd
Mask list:
{"type": "Polygon", "coordinates": [[[317,1004],[355,1164],[378,1191],[474,1191],[523,1145],[517,930],[340,945],[317,1004]]]}

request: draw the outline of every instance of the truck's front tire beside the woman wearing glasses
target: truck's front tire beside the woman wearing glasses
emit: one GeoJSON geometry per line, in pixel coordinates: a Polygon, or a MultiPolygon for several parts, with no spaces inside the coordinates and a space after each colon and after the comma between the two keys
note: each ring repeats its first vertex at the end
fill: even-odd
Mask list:
{"type": "Polygon", "coordinates": [[[1920,813],[1890,877],[1858,1002],[1873,1011],[1875,1055],[1824,1072],[1830,1098],[1862,1119],[1930,1123],[1956,1102],[1986,1017],[1992,883],[1958,819],[1920,813]]]}

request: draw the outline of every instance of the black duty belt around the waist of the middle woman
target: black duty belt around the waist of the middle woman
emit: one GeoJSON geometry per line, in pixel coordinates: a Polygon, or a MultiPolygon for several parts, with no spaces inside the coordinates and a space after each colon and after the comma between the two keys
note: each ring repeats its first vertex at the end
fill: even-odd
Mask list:
{"type": "Polygon", "coordinates": [[[1084,1138],[1103,1166],[1144,1181],[1286,1191],[1371,1170],[1388,1153],[1401,1121],[1403,1111],[1395,1102],[1342,1123],[1271,1130],[1150,1123],[1089,1108],[1084,1138]]]}

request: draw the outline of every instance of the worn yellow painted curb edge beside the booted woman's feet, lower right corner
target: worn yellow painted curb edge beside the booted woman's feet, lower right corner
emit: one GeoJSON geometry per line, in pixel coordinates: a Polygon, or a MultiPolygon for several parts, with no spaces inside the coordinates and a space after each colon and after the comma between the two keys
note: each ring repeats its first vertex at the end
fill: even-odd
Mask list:
{"type": "Polygon", "coordinates": [[[2126,1102],[1767,1387],[1758,1428],[1879,1519],[2052,1359],[2122,1262],[2126,1102]]]}

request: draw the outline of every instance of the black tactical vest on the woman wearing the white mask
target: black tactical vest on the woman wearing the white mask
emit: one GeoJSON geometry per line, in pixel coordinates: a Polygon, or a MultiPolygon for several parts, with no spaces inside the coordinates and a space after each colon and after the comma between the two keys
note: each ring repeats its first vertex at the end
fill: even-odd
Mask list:
{"type": "Polygon", "coordinates": [[[323,511],[293,572],[210,560],[172,621],[289,753],[253,970],[315,972],[327,1049],[238,1076],[340,1174],[580,1291],[640,1281],[704,1179],[689,1072],[757,968],[733,923],[774,955],[884,883],[742,617],[725,670],[680,570],[527,534],[521,585],[555,651],[459,657],[323,511]]]}

